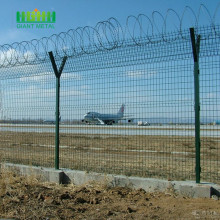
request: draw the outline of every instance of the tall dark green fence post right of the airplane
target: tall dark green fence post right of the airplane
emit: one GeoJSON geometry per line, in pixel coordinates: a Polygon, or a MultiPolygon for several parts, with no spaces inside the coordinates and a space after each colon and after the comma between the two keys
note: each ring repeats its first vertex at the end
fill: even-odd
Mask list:
{"type": "Polygon", "coordinates": [[[194,28],[190,28],[190,37],[192,43],[194,59],[194,101],[195,101],[195,147],[196,147],[196,183],[200,183],[200,99],[199,99],[199,49],[200,35],[195,39],[194,28]]]}

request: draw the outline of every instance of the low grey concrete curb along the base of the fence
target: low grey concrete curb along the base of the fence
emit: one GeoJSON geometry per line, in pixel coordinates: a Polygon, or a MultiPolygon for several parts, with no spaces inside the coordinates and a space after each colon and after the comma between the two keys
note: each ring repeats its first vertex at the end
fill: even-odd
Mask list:
{"type": "Polygon", "coordinates": [[[153,178],[127,177],[123,175],[110,175],[88,173],[77,170],[54,170],[52,168],[32,167],[18,164],[0,164],[6,169],[13,169],[22,175],[35,175],[41,181],[55,182],[58,184],[73,183],[83,185],[91,181],[106,183],[109,186],[129,187],[132,189],[144,189],[147,192],[167,190],[193,198],[211,198],[213,195],[220,197],[220,186],[213,183],[196,184],[193,181],[168,181],[153,178]]]}

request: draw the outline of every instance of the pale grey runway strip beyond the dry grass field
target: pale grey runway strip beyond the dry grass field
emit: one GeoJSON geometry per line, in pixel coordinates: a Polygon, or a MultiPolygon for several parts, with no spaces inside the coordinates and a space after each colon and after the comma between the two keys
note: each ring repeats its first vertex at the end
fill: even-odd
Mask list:
{"type": "MultiPolygon", "coordinates": [[[[201,125],[203,137],[219,137],[219,125],[201,125]]],[[[49,124],[0,124],[0,131],[14,132],[55,132],[55,125],[49,124]]],[[[60,125],[60,133],[73,134],[110,134],[110,135],[169,135],[195,136],[193,125],[60,125]]]]}

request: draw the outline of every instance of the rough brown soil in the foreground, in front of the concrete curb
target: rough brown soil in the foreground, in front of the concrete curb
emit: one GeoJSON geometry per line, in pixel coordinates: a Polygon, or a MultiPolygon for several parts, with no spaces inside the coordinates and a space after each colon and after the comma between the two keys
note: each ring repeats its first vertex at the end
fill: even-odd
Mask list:
{"type": "Polygon", "coordinates": [[[37,177],[0,172],[0,218],[11,219],[220,219],[220,200],[172,191],[40,183],[37,177]]]}

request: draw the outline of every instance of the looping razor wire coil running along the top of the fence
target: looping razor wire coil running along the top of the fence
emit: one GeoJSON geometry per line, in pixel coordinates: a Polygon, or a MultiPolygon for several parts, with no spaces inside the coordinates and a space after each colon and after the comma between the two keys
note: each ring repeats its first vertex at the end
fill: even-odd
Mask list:
{"type": "Polygon", "coordinates": [[[213,35],[219,37],[219,29],[216,28],[216,17],[219,11],[220,3],[213,15],[203,4],[200,5],[197,14],[189,6],[185,7],[182,15],[173,9],[168,9],[165,16],[154,11],[151,17],[144,14],[128,16],[125,27],[117,19],[111,17],[106,21],[98,22],[95,27],[78,27],[39,40],[0,45],[0,67],[44,62],[49,58],[48,51],[53,51],[55,58],[61,59],[63,56],[76,57],[103,50],[113,50],[126,46],[128,42],[141,45],[154,43],[155,39],[163,42],[173,42],[177,39],[188,40],[189,35],[184,31],[186,17],[191,17],[191,26],[194,26],[196,32],[199,33],[200,19],[202,15],[206,16],[211,29],[210,32],[202,34],[201,40],[213,35]],[[175,31],[172,35],[168,34],[171,18],[177,22],[174,24],[174,30],[172,28],[172,31],[175,31]]]}

